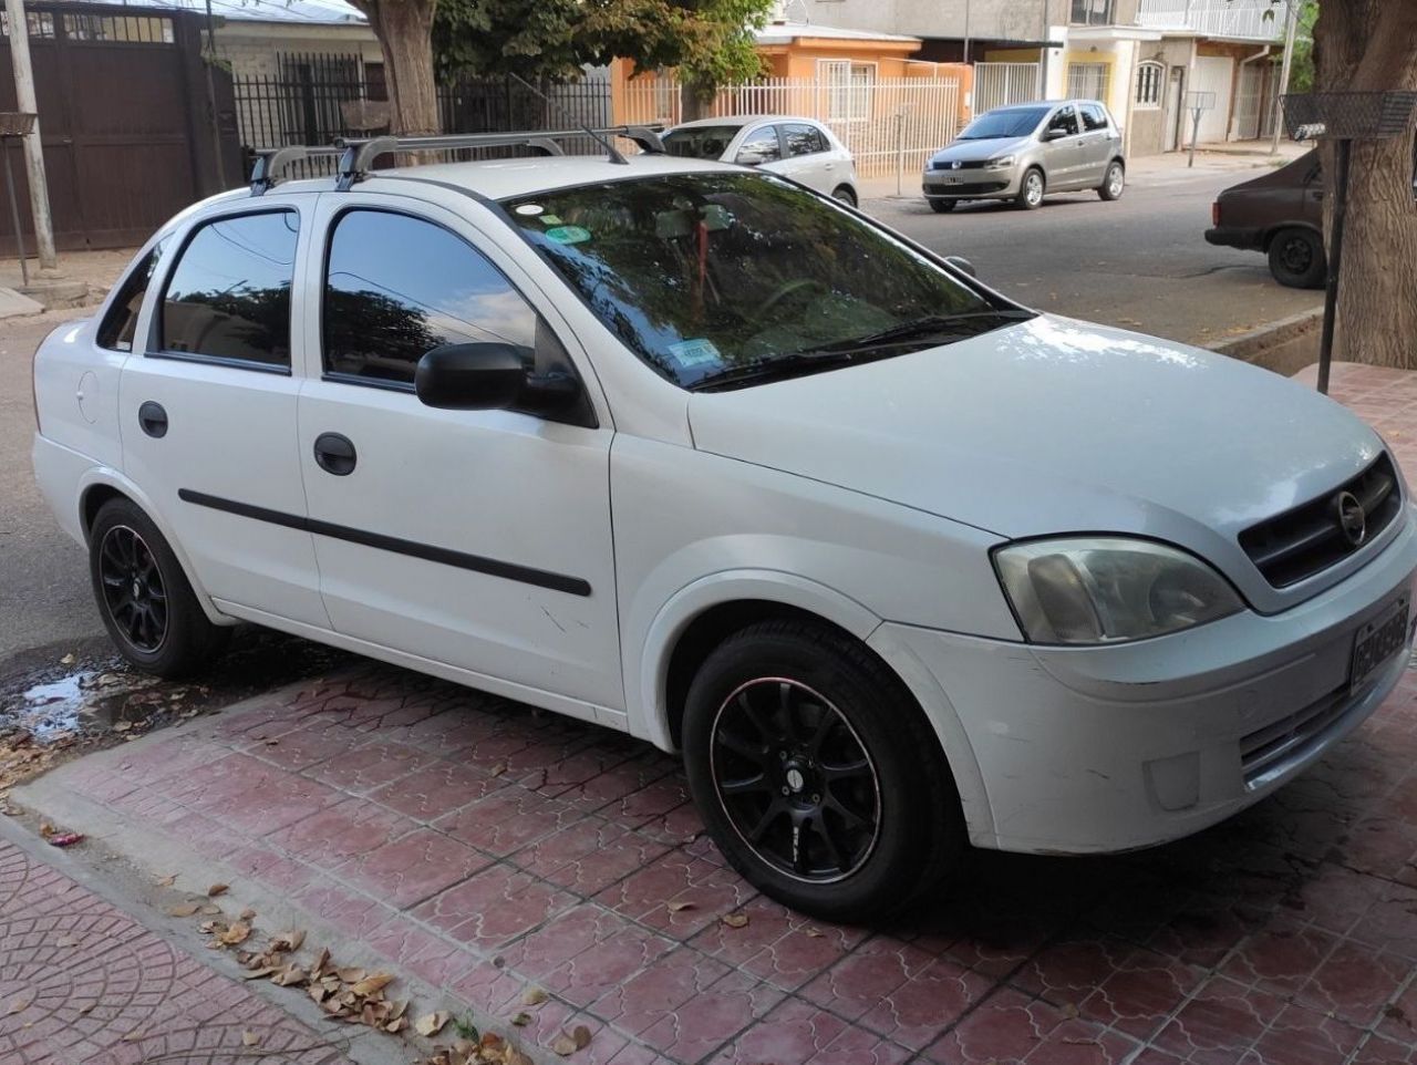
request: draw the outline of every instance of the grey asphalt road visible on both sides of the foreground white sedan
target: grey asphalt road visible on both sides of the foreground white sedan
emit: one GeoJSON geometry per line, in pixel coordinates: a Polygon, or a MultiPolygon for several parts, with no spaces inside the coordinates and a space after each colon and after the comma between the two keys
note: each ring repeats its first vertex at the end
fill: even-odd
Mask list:
{"type": "MultiPolygon", "coordinates": [[[[1209,343],[1319,303],[1275,285],[1263,256],[1202,239],[1210,201],[1243,174],[1145,178],[1122,200],[1049,200],[1039,211],[979,204],[937,215],[921,200],[869,210],[1009,296],[1060,314],[1209,343]]],[[[69,651],[106,650],[84,551],[60,532],[30,472],[30,358],[57,321],[0,321],[0,683],[69,651]]]]}

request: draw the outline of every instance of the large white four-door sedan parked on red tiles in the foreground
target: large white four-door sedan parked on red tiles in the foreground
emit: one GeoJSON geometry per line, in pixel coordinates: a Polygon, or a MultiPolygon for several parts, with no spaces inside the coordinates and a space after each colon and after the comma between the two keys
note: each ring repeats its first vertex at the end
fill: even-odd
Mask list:
{"type": "Polygon", "coordinates": [[[1357,418],[762,170],[224,194],[34,387],[38,483],[140,668],[245,620],[631,732],[832,918],[966,843],[1213,824],[1407,663],[1417,531],[1357,418]]]}

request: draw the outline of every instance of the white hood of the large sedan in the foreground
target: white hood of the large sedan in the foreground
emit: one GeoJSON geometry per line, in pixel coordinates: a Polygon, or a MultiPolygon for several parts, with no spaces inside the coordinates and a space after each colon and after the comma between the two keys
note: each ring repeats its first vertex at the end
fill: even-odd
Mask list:
{"type": "Polygon", "coordinates": [[[1335,489],[1382,450],[1345,408],[1267,370],[1047,314],[696,394],[689,419],[701,450],[1000,537],[1132,532],[1251,576],[1241,530],[1335,489]]]}

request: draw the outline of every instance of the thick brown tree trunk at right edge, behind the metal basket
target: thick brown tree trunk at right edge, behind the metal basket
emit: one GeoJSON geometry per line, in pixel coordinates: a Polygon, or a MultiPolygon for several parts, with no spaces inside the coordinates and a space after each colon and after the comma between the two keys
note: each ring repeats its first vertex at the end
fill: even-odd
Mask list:
{"type": "MultiPolygon", "coordinates": [[[[1417,89],[1417,3],[1323,0],[1314,27],[1319,92],[1417,89]]],[[[1323,146],[1332,227],[1335,153],[1323,146]]],[[[1355,140],[1333,357],[1417,370],[1417,203],[1413,126],[1355,140]]]]}

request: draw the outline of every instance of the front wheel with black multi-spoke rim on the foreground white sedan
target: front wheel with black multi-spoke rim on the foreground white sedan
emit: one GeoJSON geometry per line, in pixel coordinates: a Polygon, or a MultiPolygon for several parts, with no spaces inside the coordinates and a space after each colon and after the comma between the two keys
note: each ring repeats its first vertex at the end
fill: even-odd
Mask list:
{"type": "Polygon", "coordinates": [[[935,891],[964,851],[959,796],[924,714],[866,647],[825,626],[762,622],[720,644],[690,684],[683,748],[724,857],[803,913],[876,921],[935,891]]]}

